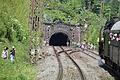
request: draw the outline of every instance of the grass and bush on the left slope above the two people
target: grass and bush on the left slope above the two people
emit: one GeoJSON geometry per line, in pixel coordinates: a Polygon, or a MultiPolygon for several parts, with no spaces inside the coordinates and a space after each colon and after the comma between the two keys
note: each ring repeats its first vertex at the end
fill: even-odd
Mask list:
{"type": "Polygon", "coordinates": [[[0,40],[22,41],[28,35],[29,0],[0,1],[0,40]]]}

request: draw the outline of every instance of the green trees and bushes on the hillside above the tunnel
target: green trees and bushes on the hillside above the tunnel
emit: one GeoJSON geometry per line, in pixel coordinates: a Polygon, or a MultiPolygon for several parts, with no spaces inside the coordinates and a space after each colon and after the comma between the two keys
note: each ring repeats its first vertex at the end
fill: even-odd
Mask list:
{"type": "Polygon", "coordinates": [[[71,24],[88,25],[85,40],[98,45],[100,28],[106,20],[118,16],[118,0],[45,0],[44,21],[62,20],[71,24]],[[70,16],[70,19],[68,18],[70,16]]]}

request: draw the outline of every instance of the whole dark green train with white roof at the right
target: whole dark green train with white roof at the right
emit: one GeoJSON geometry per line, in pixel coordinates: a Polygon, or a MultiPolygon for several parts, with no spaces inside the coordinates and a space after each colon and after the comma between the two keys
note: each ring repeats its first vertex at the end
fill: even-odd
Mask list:
{"type": "Polygon", "coordinates": [[[105,63],[120,71],[120,19],[106,23],[100,32],[99,55],[105,63]],[[103,39],[102,39],[103,38],[103,39]]]}

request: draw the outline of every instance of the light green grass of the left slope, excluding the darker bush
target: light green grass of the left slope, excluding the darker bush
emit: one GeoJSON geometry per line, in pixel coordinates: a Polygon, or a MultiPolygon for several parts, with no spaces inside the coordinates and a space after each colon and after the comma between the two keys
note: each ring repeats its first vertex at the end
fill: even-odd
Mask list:
{"type": "MultiPolygon", "coordinates": [[[[28,6],[29,0],[0,0],[0,11],[4,11],[12,18],[17,19],[26,34],[28,30],[28,6]]],[[[4,46],[11,49],[12,45],[16,47],[15,64],[12,64],[10,60],[4,61],[0,57],[0,80],[35,80],[35,70],[29,63],[26,42],[24,44],[8,40],[5,43],[0,42],[0,55],[4,46]]]]}

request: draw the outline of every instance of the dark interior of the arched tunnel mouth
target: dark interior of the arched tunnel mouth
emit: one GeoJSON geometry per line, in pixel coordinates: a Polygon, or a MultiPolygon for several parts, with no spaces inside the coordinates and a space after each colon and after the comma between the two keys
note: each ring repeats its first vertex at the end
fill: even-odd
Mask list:
{"type": "Polygon", "coordinates": [[[62,32],[58,32],[51,36],[49,45],[50,46],[67,46],[67,42],[70,44],[68,35],[62,32]]]}

